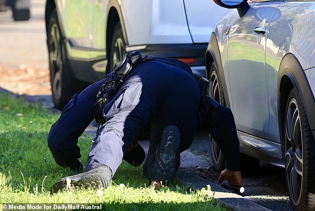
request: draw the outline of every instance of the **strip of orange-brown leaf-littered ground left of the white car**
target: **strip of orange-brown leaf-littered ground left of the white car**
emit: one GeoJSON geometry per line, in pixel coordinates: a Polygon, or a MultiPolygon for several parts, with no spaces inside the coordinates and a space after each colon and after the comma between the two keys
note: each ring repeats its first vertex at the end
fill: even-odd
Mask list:
{"type": "Polygon", "coordinates": [[[49,70],[0,66],[0,87],[18,95],[51,95],[49,70]]]}

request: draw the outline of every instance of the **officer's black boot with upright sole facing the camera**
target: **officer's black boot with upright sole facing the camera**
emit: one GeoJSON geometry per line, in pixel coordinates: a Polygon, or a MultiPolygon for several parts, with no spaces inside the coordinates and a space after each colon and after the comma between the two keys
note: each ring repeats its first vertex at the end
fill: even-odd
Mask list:
{"type": "MultiPolygon", "coordinates": [[[[179,142],[180,132],[176,126],[167,126],[161,136],[153,162],[150,160],[145,165],[146,175],[150,181],[171,180],[179,167],[179,142]]],[[[149,158],[149,155],[148,155],[149,158]]],[[[149,158],[150,159],[150,158],[149,158]]]]}

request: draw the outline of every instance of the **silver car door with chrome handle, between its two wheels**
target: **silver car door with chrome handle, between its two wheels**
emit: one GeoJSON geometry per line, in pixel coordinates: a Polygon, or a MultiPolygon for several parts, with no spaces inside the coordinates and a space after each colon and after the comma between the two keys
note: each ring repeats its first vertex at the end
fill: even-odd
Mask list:
{"type": "Polygon", "coordinates": [[[265,72],[265,36],[275,10],[273,3],[251,2],[231,25],[228,68],[238,130],[268,139],[269,105],[265,72]],[[259,8],[268,8],[259,12],[259,8]]]}

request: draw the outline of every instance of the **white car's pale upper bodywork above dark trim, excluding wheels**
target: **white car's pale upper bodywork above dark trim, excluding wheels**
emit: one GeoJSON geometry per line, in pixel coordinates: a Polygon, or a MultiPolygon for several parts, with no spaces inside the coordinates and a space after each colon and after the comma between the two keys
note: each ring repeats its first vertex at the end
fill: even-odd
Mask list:
{"type": "MultiPolygon", "coordinates": [[[[194,9],[190,7],[189,12],[190,21],[196,23],[200,18],[193,18],[193,13],[196,14],[198,9],[204,8],[204,4],[207,5],[205,8],[209,14],[207,18],[218,10],[215,12],[216,19],[209,18],[211,21],[208,19],[206,27],[198,25],[203,31],[201,35],[194,33],[199,40],[207,43],[216,20],[224,15],[227,9],[216,6],[213,2],[204,1],[194,5],[194,9]]],[[[105,23],[111,7],[115,7],[121,16],[120,20],[123,22],[123,31],[129,46],[193,43],[183,0],[87,0],[84,2],[77,0],[75,3],[56,0],[56,5],[64,35],[71,40],[71,46],[74,47],[106,50],[105,23]]]]}

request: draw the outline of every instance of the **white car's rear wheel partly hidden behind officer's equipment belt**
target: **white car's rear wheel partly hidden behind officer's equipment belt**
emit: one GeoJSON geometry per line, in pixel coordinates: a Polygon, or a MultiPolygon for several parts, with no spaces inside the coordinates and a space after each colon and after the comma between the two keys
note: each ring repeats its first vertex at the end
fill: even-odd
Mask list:
{"type": "Polygon", "coordinates": [[[125,54],[126,43],[123,37],[121,24],[120,22],[118,22],[113,31],[107,73],[111,72],[119,65],[119,63],[123,60],[125,54]]]}

